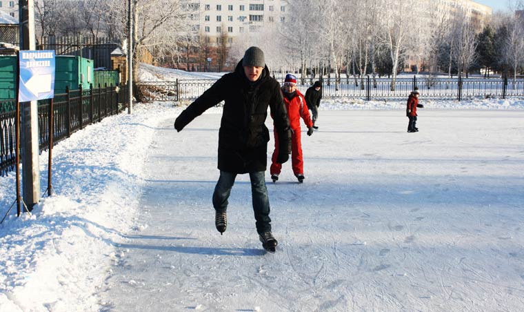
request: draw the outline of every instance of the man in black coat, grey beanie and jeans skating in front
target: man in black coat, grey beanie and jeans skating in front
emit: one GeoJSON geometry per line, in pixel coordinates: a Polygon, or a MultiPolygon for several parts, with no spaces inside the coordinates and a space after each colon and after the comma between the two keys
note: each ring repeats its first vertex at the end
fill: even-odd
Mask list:
{"type": "Polygon", "coordinates": [[[289,159],[290,121],[280,84],[270,77],[260,48],[248,48],[234,72],[223,75],[185,108],[174,121],[174,128],[181,131],[195,117],[221,101],[224,105],[219,129],[220,177],[212,197],[216,229],[222,234],[227,227],[228,197],[236,175],[249,173],[256,231],[264,248],[274,250],[277,242],[271,232],[270,203],[265,186],[270,136],[264,122],[268,106],[281,136],[281,153],[277,160],[281,164],[289,159]]]}

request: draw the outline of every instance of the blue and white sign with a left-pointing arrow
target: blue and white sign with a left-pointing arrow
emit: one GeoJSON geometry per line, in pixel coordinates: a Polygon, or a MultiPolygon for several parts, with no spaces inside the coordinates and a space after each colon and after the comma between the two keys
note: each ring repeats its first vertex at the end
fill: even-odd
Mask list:
{"type": "Polygon", "coordinates": [[[54,97],[54,50],[21,50],[19,55],[18,101],[54,97]]]}

